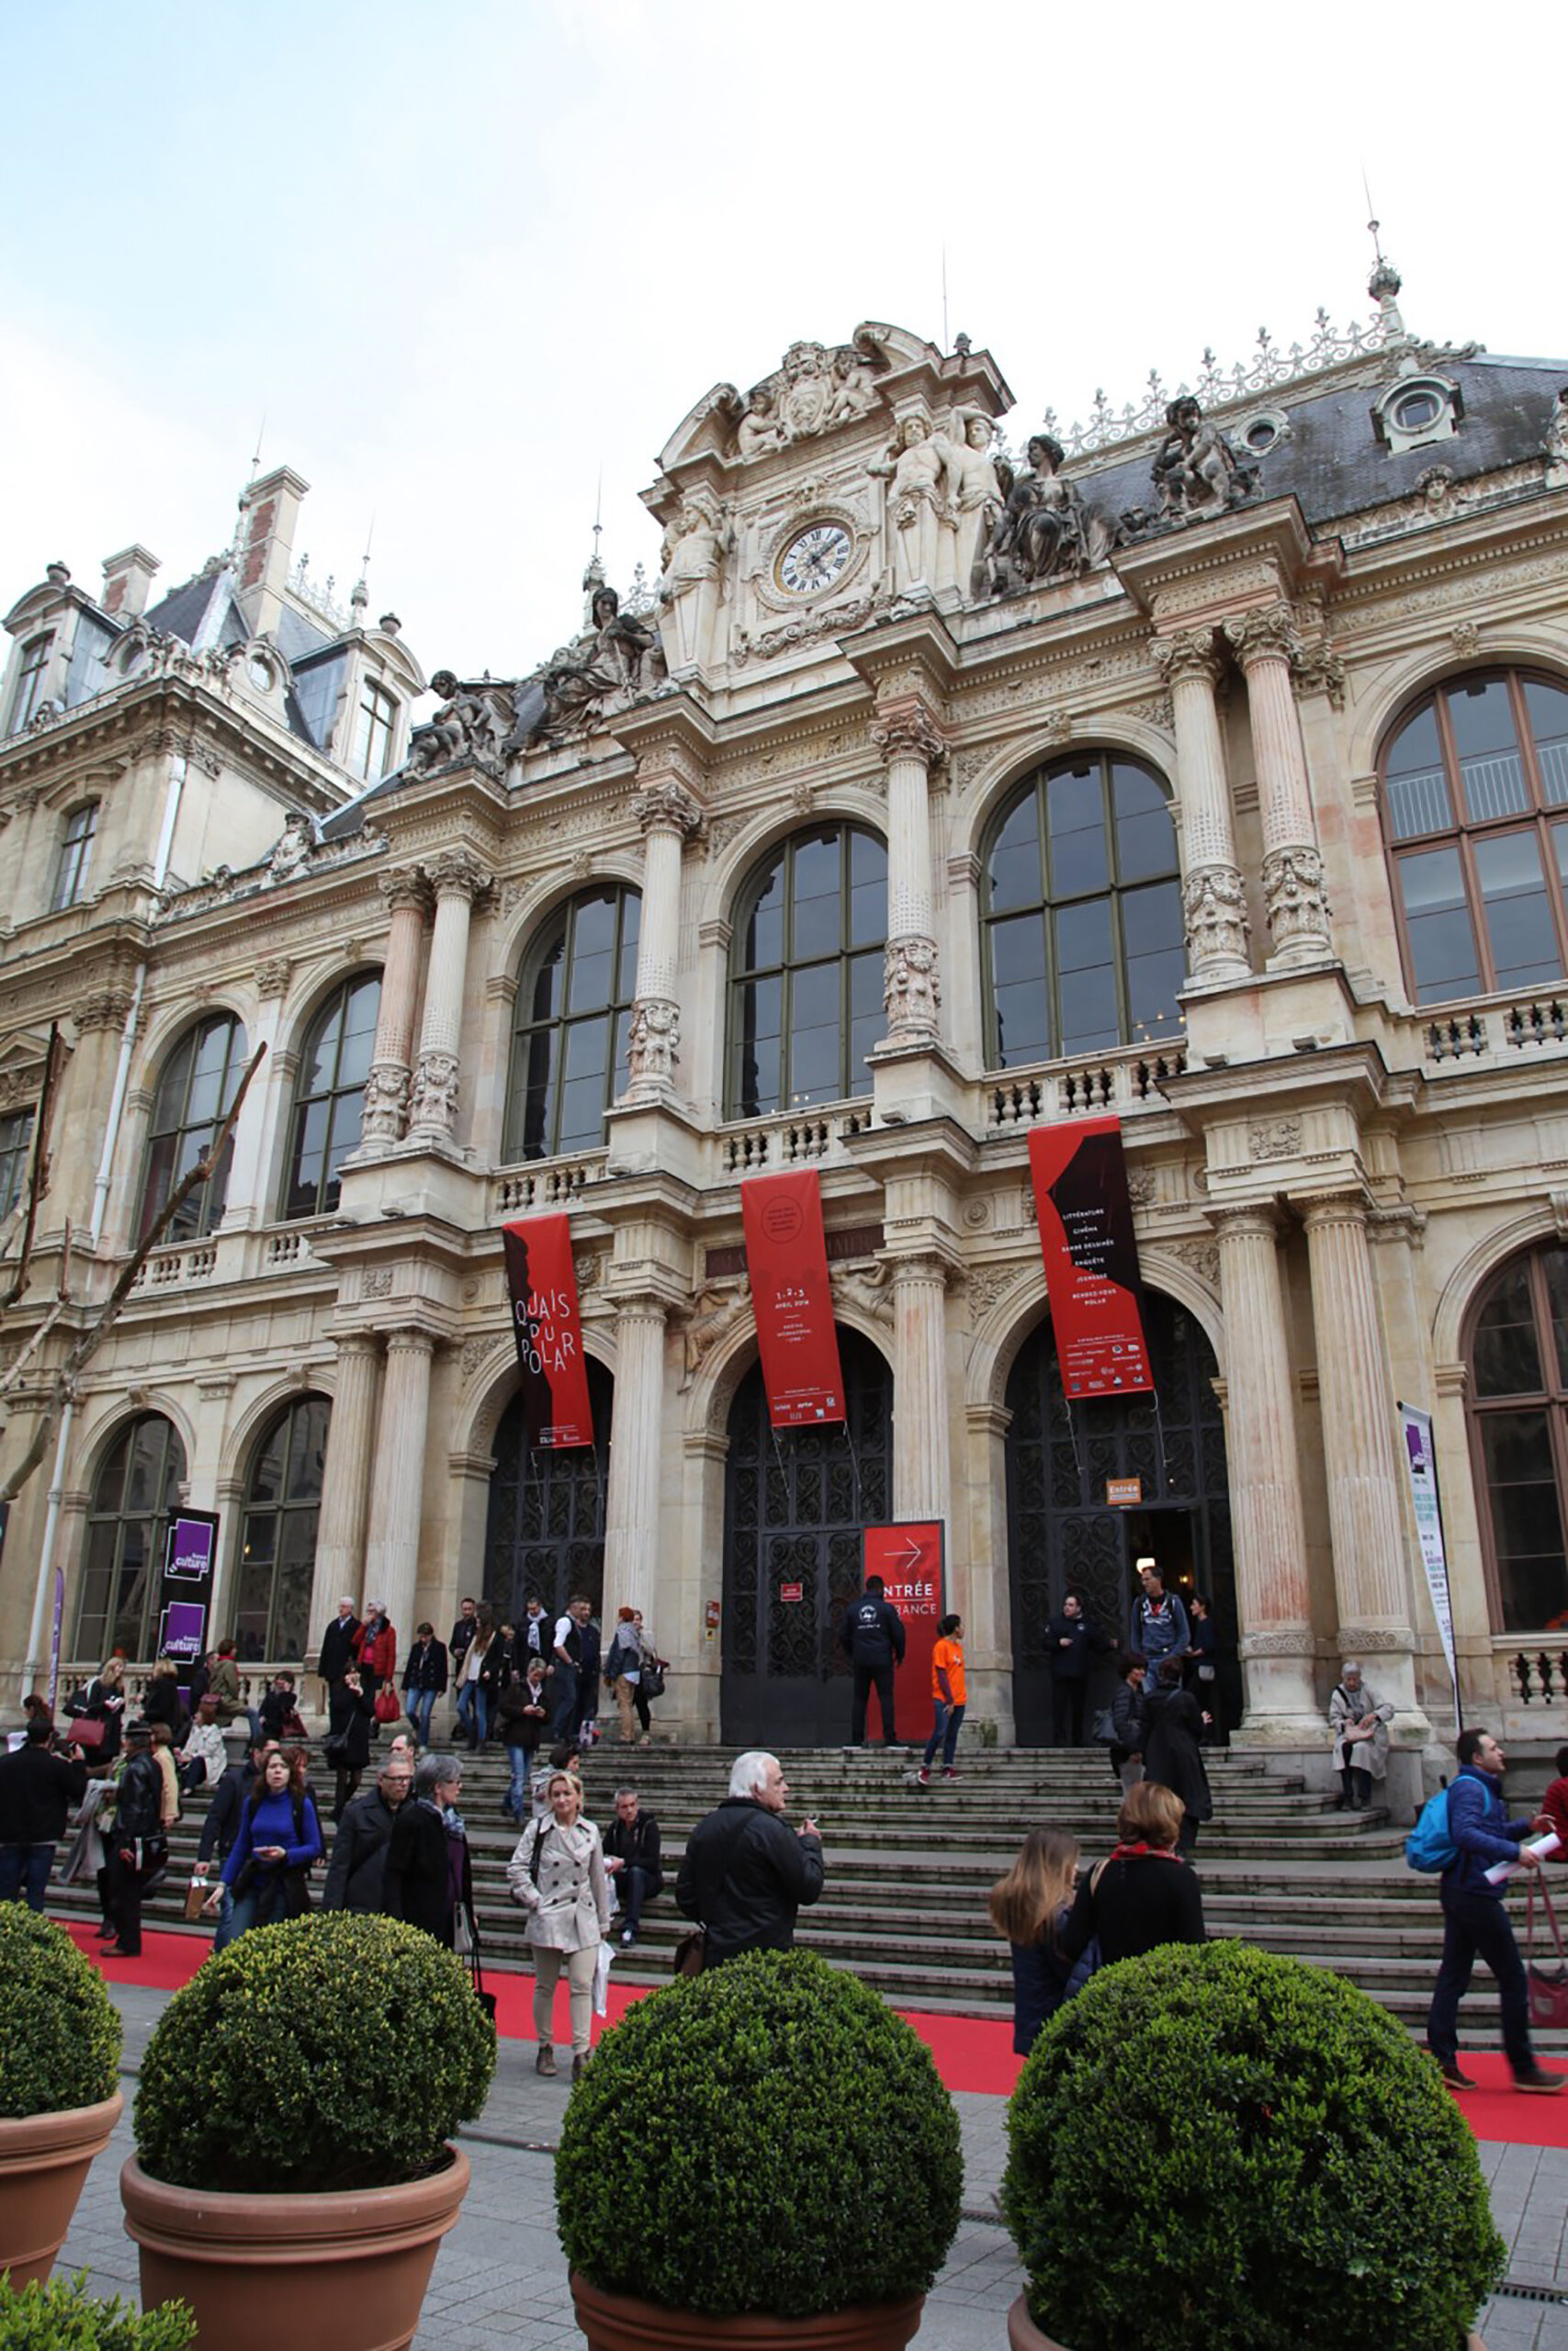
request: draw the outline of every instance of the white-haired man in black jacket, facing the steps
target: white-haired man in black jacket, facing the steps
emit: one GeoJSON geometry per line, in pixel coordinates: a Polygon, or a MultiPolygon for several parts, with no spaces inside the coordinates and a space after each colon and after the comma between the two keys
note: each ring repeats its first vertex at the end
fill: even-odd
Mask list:
{"type": "Polygon", "coordinates": [[[708,1968],[738,1951],[788,1951],[802,1902],[823,1890],[823,1836],[806,1817],[785,1827],[790,1789],[778,1756],[752,1747],[724,1803],[698,1820],[675,1881],[686,1918],[705,1928],[708,1968]]]}

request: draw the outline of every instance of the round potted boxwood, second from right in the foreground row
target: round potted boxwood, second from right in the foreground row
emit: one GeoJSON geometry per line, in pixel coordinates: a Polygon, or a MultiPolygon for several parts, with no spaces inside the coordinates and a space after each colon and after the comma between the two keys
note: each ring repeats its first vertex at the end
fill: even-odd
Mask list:
{"type": "Polygon", "coordinates": [[[559,2238],[590,2351],[903,2351],[959,2224],[931,2052],[809,1951],[632,2008],[571,2092],[559,2238]]]}

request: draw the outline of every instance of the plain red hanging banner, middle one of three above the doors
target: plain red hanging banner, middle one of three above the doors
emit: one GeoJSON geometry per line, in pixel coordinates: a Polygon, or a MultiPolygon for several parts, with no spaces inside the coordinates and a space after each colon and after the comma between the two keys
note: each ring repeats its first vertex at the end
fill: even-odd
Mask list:
{"type": "Polygon", "coordinates": [[[844,1420],[816,1168],[748,1176],[741,1185],[741,1218],[771,1425],[795,1429],[802,1422],[844,1420]]]}

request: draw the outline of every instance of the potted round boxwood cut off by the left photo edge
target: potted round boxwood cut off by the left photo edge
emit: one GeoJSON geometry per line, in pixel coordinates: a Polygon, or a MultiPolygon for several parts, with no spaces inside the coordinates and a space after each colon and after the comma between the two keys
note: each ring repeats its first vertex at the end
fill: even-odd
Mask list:
{"type": "Polygon", "coordinates": [[[120,2121],[120,2012],[71,1935],[24,1902],[0,1902],[0,2271],[26,2285],[54,2269],[120,2121]]]}

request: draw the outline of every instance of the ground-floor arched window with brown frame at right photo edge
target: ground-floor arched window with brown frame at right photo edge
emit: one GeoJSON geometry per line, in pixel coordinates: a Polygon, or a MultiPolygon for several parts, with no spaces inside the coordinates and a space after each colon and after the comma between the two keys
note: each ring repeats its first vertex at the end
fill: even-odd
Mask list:
{"type": "Polygon", "coordinates": [[[1568,1625],[1568,1248],[1512,1258],[1469,1340],[1469,1441],[1502,1632],[1568,1625]]]}

